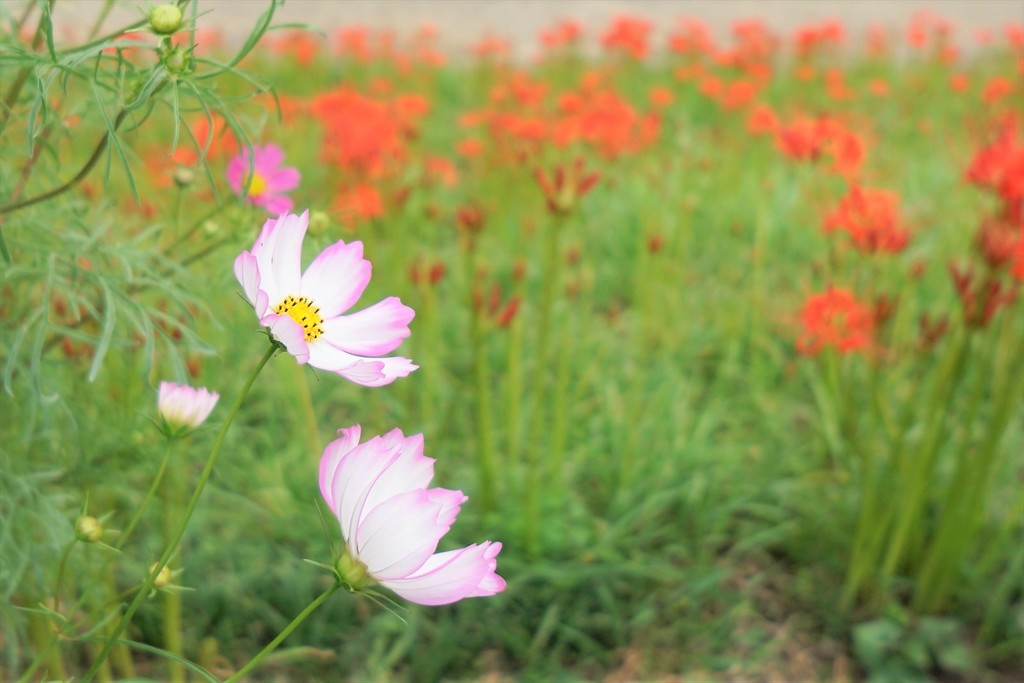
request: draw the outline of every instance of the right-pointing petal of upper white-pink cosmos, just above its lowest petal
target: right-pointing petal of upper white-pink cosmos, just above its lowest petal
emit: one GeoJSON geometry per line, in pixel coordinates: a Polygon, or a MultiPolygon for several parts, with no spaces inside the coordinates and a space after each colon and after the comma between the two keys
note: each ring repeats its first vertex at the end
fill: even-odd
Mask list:
{"type": "Polygon", "coordinates": [[[388,297],[355,313],[324,322],[327,340],[349,353],[381,355],[397,348],[409,336],[416,315],[398,297],[388,297]]]}

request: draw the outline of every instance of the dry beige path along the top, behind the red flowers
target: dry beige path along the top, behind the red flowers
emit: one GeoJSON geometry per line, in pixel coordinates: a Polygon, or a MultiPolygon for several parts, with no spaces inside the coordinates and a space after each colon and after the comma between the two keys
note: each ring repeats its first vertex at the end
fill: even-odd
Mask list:
{"type": "MultiPolygon", "coordinates": [[[[25,2],[0,0],[0,5],[16,13],[25,2]]],[[[124,0],[105,26],[134,20],[151,4],[124,0]]],[[[102,0],[57,0],[57,24],[88,26],[101,5],[102,0]]],[[[216,27],[237,41],[266,6],[266,0],[200,0],[200,8],[208,12],[201,25],[216,27]]],[[[1024,0],[287,0],[278,16],[326,31],[361,25],[398,36],[430,24],[453,54],[466,53],[473,42],[490,34],[510,41],[516,57],[528,58],[538,49],[540,31],[561,18],[581,22],[591,38],[626,13],[650,19],[660,35],[680,17],[700,18],[720,37],[736,19],[756,17],[783,35],[809,22],[838,18],[856,36],[872,25],[900,30],[923,10],[952,22],[965,47],[973,44],[979,29],[1024,24],[1024,0]]]]}

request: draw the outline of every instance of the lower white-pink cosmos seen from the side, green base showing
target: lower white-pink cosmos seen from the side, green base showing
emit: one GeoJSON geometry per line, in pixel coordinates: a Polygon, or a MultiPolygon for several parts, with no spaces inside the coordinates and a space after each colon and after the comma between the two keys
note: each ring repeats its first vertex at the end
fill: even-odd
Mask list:
{"type": "Polygon", "coordinates": [[[353,589],[376,581],[421,605],[504,591],[495,573],[502,544],[435,552],[466,497],[427,488],[434,460],[423,456],[423,435],[394,429],[360,444],[359,432],[358,425],[339,430],[319,465],[321,493],[345,540],[336,565],[342,578],[353,589]]]}

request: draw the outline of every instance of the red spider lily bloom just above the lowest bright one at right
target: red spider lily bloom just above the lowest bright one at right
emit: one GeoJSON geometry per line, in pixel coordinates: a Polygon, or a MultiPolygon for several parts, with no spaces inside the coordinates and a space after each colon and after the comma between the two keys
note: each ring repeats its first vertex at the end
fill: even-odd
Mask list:
{"type": "Polygon", "coordinates": [[[866,254],[903,251],[910,238],[901,225],[899,195],[859,185],[825,217],[824,230],[849,233],[857,250],[866,254]]]}

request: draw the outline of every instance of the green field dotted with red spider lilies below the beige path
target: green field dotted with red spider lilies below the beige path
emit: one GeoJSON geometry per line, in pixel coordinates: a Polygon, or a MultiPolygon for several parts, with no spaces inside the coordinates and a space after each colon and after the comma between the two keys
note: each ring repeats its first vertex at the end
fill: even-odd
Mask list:
{"type": "Polygon", "coordinates": [[[225,680],[335,587],[246,680],[1024,676],[1024,26],[624,17],[514,63],[178,4],[0,10],[0,679],[225,680]],[[266,145],[415,372],[279,335],[249,388],[266,145]],[[220,400],[168,438],[162,381],[220,400]],[[352,425],[423,434],[439,550],[501,542],[504,591],[342,581],[352,425]]]}

